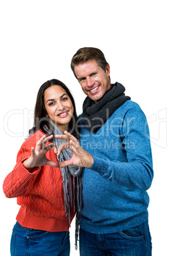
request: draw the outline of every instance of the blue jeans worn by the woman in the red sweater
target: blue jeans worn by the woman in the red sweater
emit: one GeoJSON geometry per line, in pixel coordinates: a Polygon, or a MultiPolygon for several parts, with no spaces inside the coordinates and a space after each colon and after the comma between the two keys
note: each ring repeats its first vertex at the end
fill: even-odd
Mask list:
{"type": "Polygon", "coordinates": [[[13,256],[69,256],[70,234],[27,229],[16,222],[10,249],[13,256]]]}

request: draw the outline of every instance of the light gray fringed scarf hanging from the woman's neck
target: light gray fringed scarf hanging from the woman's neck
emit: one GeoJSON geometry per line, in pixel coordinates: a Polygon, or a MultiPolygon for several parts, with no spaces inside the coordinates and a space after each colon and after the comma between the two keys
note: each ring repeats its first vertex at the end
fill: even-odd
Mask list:
{"type": "MultiPolygon", "coordinates": [[[[56,139],[56,134],[62,134],[60,129],[51,122],[53,126],[53,143],[58,148],[62,143],[67,143],[63,139],[56,139]]],[[[62,134],[63,135],[63,134],[62,134]]],[[[63,149],[62,153],[57,156],[58,163],[68,160],[72,157],[72,151],[68,149],[63,149]]],[[[70,206],[74,203],[74,211],[76,211],[75,217],[75,249],[77,250],[77,238],[79,235],[79,222],[81,216],[81,193],[82,193],[82,176],[84,168],[77,166],[67,166],[60,168],[63,178],[63,192],[64,192],[64,202],[65,202],[65,215],[69,218],[70,224],[70,206]],[[73,176],[73,185],[74,185],[74,195],[72,200],[72,182],[71,175],[73,176]]]]}

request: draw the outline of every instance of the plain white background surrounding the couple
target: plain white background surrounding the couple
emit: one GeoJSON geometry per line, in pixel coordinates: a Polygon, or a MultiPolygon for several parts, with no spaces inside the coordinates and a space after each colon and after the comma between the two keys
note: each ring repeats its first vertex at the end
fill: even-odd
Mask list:
{"type": "MultiPolygon", "coordinates": [[[[15,166],[16,153],[33,125],[37,90],[46,80],[62,80],[80,114],[85,96],[70,60],[84,46],[103,51],[112,83],[122,83],[148,119],[155,172],[148,190],[153,255],[170,255],[169,22],[169,1],[164,0],[1,1],[0,255],[10,255],[19,208],[16,199],[4,196],[3,180],[15,166]]],[[[79,255],[74,250],[74,223],[70,236],[71,255],[79,255]]]]}

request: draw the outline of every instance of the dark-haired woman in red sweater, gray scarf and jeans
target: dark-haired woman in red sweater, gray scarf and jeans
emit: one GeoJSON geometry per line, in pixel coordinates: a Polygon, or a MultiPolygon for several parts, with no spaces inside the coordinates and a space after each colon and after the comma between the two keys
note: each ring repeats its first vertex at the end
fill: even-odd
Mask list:
{"type": "Polygon", "coordinates": [[[11,236],[11,255],[69,255],[69,226],[75,215],[73,200],[76,166],[59,168],[72,156],[55,134],[75,134],[77,114],[69,89],[59,80],[44,83],[37,94],[34,127],[22,144],[16,166],[3,183],[6,197],[21,206],[11,236]]]}

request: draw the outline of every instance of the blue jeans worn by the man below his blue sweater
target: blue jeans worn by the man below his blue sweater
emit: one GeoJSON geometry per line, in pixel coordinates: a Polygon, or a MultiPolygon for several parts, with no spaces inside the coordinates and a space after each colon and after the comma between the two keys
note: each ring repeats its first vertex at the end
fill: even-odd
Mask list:
{"type": "Polygon", "coordinates": [[[80,229],[79,239],[81,256],[152,255],[152,243],[148,222],[113,234],[92,234],[80,229]]]}

